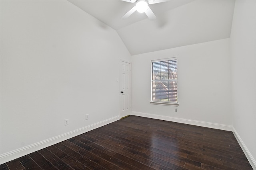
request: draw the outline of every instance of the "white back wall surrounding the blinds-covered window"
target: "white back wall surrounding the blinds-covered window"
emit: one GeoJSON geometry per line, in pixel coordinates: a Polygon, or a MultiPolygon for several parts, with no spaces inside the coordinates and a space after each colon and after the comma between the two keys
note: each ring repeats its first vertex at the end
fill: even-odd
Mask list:
{"type": "Polygon", "coordinates": [[[232,130],[229,39],[132,56],[132,113],[232,130]],[[178,107],[150,104],[151,60],[178,58],[178,107]],[[174,112],[177,108],[177,112],[174,112]]]}

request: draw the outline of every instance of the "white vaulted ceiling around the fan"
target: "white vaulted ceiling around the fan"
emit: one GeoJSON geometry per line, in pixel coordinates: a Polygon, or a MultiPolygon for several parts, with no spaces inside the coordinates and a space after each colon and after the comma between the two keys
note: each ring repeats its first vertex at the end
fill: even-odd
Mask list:
{"type": "Polygon", "coordinates": [[[170,0],[149,7],[156,20],[134,12],[121,17],[134,3],[121,0],[69,0],[106,23],[121,37],[131,55],[230,37],[233,0],[170,0]]]}

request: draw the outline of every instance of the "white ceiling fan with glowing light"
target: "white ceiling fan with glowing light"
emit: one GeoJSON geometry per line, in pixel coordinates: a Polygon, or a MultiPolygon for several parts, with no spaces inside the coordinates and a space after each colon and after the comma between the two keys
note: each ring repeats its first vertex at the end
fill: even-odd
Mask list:
{"type": "Polygon", "coordinates": [[[149,8],[148,4],[156,4],[159,2],[166,2],[168,0],[122,0],[125,2],[136,2],[136,6],[134,6],[130,11],[128,11],[124,16],[122,16],[122,19],[128,18],[130,15],[132,15],[136,10],[140,13],[145,12],[145,14],[148,16],[150,20],[155,20],[156,16],[154,12],[149,8]]]}

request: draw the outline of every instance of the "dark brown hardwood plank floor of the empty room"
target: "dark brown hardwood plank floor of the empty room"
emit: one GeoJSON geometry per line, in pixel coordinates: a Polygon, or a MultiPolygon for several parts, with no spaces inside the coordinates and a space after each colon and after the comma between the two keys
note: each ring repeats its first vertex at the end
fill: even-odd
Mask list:
{"type": "Polygon", "coordinates": [[[230,131],[130,116],[1,170],[252,170],[230,131]]]}

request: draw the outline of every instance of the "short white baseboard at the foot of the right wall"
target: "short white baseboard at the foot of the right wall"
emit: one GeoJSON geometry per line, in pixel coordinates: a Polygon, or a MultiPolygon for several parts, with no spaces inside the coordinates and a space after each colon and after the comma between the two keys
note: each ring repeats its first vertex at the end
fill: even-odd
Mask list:
{"type": "Polygon", "coordinates": [[[236,129],[234,127],[233,127],[233,133],[234,133],[234,135],[236,137],[236,140],[238,141],[240,147],[244,151],[244,154],[245,154],[246,158],[250,162],[252,168],[254,170],[256,170],[256,160],[254,159],[254,157],[252,156],[252,154],[250,153],[250,151],[248,150],[248,148],[246,147],[246,145],[242,141],[242,138],[238,135],[238,133],[237,133],[237,131],[236,131],[236,129]]]}

